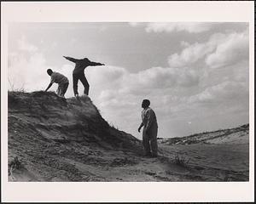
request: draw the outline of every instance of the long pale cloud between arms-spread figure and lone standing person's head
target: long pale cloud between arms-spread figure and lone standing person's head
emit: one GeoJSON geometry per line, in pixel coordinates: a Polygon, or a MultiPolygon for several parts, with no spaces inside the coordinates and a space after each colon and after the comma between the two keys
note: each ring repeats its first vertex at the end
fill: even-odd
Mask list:
{"type": "Polygon", "coordinates": [[[166,88],[190,88],[199,82],[197,73],[189,68],[152,67],[130,73],[122,67],[99,66],[88,68],[86,76],[90,87],[99,93],[98,99],[105,101],[105,105],[106,101],[112,98],[122,98],[129,103],[131,99],[140,95],[154,95],[166,88]]]}

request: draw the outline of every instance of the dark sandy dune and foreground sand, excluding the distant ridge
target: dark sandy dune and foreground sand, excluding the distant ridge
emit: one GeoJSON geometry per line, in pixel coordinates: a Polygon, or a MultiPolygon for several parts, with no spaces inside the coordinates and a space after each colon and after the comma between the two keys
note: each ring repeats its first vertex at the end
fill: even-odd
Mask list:
{"type": "Polygon", "coordinates": [[[142,142],[109,127],[89,98],[12,92],[8,120],[9,181],[248,180],[248,143],[211,137],[212,144],[160,144],[158,158],[143,157],[142,142]]]}

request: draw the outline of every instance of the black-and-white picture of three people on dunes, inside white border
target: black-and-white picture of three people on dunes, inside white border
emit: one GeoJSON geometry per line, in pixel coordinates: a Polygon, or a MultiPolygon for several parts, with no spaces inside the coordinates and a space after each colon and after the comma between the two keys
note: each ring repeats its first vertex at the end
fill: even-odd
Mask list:
{"type": "Polygon", "coordinates": [[[250,24],[10,20],[6,182],[248,184],[250,24]]]}

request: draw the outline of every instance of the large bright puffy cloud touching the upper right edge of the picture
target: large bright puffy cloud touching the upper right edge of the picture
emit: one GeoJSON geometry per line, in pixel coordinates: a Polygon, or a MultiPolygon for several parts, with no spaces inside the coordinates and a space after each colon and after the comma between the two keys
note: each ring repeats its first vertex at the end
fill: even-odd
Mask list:
{"type": "Polygon", "coordinates": [[[169,65],[172,67],[191,66],[200,59],[211,68],[231,65],[241,59],[248,58],[248,35],[247,31],[241,33],[216,33],[207,42],[195,42],[186,45],[180,54],[172,54],[169,65]]]}

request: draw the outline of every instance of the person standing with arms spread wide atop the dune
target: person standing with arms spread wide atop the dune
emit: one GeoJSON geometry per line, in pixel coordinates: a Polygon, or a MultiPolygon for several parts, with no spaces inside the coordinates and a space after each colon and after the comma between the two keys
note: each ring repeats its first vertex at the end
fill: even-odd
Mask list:
{"type": "Polygon", "coordinates": [[[90,85],[89,85],[86,77],[84,76],[84,69],[87,66],[96,66],[96,65],[104,65],[104,64],[90,61],[90,59],[88,59],[88,58],[74,59],[74,58],[66,57],[66,56],[63,56],[63,57],[65,59],[68,59],[68,60],[70,60],[70,61],[72,61],[73,63],[76,64],[75,68],[73,70],[73,93],[74,93],[75,97],[79,96],[79,92],[78,92],[78,82],[79,82],[79,80],[84,85],[84,94],[88,95],[90,85]]]}

